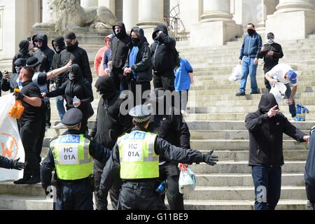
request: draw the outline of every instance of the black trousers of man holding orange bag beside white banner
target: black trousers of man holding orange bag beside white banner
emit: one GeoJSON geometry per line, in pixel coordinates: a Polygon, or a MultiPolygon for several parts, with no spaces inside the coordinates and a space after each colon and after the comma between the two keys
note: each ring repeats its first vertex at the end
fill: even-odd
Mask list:
{"type": "Polygon", "coordinates": [[[38,161],[40,153],[38,155],[38,143],[42,126],[45,127],[45,123],[42,124],[42,121],[42,116],[38,116],[35,120],[20,122],[20,137],[25,151],[24,178],[40,175],[40,165],[38,161]]]}

